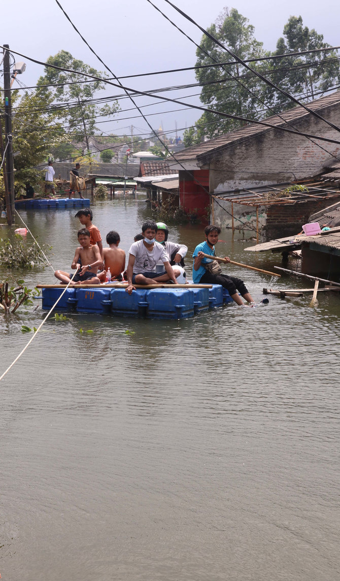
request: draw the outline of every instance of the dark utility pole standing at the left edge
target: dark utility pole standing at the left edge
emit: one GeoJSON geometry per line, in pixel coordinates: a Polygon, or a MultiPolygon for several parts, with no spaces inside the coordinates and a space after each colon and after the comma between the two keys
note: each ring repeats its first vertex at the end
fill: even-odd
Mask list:
{"type": "MultiPolygon", "coordinates": [[[[5,98],[5,149],[6,149],[6,175],[8,184],[8,197],[6,200],[7,221],[11,225],[14,223],[15,206],[14,206],[14,172],[13,172],[13,145],[12,145],[12,99],[10,96],[10,62],[9,62],[9,45],[5,47],[3,56],[3,94],[5,98]],[[10,211],[9,211],[10,210],[10,211]]],[[[4,171],[5,173],[5,171],[4,171]]]]}

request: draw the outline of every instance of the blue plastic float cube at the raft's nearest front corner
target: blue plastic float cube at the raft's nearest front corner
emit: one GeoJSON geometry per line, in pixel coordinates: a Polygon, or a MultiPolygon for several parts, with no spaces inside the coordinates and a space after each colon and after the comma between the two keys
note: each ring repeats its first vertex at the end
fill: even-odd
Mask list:
{"type": "Polygon", "coordinates": [[[152,289],[146,293],[147,317],[187,319],[194,316],[194,295],[189,289],[152,289]]]}

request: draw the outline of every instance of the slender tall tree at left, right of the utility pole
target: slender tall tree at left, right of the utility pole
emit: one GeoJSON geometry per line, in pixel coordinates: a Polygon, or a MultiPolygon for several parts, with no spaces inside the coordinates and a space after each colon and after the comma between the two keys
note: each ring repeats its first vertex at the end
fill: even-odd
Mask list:
{"type": "MultiPolygon", "coordinates": [[[[79,73],[91,74],[95,77],[105,78],[107,75],[93,69],[82,60],[75,59],[71,53],[60,51],[55,56],[50,56],[48,64],[53,64],[62,69],[72,69],[79,73]]],[[[113,101],[100,107],[93,100],[97,91],[104,89],[103,81],[89,81],[82,74],[68,73],[50,67],[45,67],[45,76],[38,80],[39,93],[44,97],[53,97],[57,116],[67,124],[68,132],[74,133],[74,139],[85,141],[89,152],[89,137],[97,133],[96,117],[107,117],[118,111],[117,101],[113,101]],[[44,85],[53,85],[44,87],[44,85]]]]}

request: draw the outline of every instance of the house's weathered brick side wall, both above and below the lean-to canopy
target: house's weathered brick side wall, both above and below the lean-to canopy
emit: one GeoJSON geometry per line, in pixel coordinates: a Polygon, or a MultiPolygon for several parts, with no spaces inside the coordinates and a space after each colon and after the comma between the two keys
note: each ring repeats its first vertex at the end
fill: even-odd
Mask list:
{"type": "MultiPolygon", "coordinates": [[[[335,125],[340,125],[340,104],[328,107],[328,110],[320,110],[320,114],[335,125]]],[[[294,121],[291,128],[339,140],[338,131],[311,114],[294,121]]],[[[243,188],[252,189],[313,177],[322,173],[325,167],[334,162],[333,156],[339,154],[340,146],[337,144],[316,139],[311,141],[280,130],[269,130],[251,139],[226,145],[226,148],[212,152],[211,155],[200,156],[200,164],[202,168],[209,168],[209,191],[218,195],[243,188]]],[[[267,209],[261,207],[259,227],[264,227],[263,232],[267,239],[294,234],[308,221],[310,214],[327,207],[329,203],[325,199],[315,203],[288,203],[267,209]]],[[[256,229],[254,207],[236,203],[232,207],[225,200],[214,204],[215,223],[231,228],[232,214],[234,227],[241,228],[244,222],[251,229],[256,229]]]]}

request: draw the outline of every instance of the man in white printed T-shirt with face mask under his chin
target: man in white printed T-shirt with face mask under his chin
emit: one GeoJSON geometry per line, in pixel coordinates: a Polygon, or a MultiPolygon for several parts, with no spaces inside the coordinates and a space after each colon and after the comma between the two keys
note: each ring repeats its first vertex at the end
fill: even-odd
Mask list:
{"type": "Polygon", "coordinates": [[[180,275],[179,269],[171,268],[169,257],[161,244],[155,241],[157,224],[153,220],[147,220],[142,226],[143,240],[133,242],[129,249],[129,263],[126,268],[128,287],[126,292],[131,295],[136,290],[134,284],[150,285],[162,284],[172,281],[178,284],[176,277],[180,275]],[[164,271],[156,272],[155,266],[161,260],[164,271]]]}

